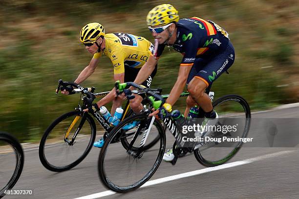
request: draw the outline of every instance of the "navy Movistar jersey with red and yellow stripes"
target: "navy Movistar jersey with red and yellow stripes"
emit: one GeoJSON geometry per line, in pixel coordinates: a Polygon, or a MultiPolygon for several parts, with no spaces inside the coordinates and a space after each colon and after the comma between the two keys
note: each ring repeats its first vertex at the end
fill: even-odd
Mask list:
{"type": "MultiPolygon", "coordinates": [[[[181,19],[176,23],[176,41],[172,47],[183,54],[180,66],[190,66],[196,58],[210,59],[224,51],[228,45],[228,33],[213,21],[197,17],[181,19]]],[[[159,44],[160,57],[165,44],[159,44]]]]}

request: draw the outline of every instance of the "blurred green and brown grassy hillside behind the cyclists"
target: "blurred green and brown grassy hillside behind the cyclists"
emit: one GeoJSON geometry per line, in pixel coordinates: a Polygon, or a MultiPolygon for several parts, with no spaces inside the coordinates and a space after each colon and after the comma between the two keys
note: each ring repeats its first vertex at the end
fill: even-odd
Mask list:
{"type": "MultiPolygon", "coordinates": [[[[78,34],[88,22],[102,23],[106,32],[126,32],[151,41],[146,15],[155,5],[171,2],[181,18],[213,20],[230,33],[236,60],[230,75],[213,86],[215,99],[239,94],[252,109],[297,102],[297,0],[2,0],[0,2],[0,130],[21,141],[39,141],[58,116],[75,108],[79,95],[55,95],[59,79],[73,81],[91,55],[78,34]],[[129,11],[129,12],[128,12],[129,11]]],[[[165,50],[153,87],[169,93],[182,57],[165,50]]],[[[113,68],[103,57],[83,86],[97,92],[113,87],[113,68]]],[[[184,110],[185,99],[175,108],[184,110]]]]}

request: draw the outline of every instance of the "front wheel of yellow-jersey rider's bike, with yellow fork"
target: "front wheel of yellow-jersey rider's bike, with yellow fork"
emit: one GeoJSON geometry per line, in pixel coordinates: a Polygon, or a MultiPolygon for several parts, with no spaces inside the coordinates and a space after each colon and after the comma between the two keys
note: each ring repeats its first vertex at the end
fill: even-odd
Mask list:
{"type": "Polygon", "coordinates": [[[92,117],[71,111],[57,118],[44,132],[39,156],[45,168],[61,172],[78,165],[89,153],[96,136],[92,117]],[[82,124],[82,122],[84,122],[82,124]],[[75,136],[76,135],[76,136],[75,136]],[[71,143],[70,141],[75,138],[71,143]]]}

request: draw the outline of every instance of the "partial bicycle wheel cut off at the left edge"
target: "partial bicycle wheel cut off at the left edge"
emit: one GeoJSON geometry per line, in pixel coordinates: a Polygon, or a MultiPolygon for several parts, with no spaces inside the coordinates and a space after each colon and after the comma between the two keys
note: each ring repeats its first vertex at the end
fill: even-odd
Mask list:
{"type": "Polygon", "coordinates": [[[5,190],[13,188],[21,176],[24,153],[13,136],[0,132],[0,198],[5,190]]]}

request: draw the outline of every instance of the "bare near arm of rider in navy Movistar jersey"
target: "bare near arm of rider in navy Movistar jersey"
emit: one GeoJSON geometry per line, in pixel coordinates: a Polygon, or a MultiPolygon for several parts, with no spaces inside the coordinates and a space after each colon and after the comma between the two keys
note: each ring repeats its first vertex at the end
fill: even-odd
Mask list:
{"type": "Polygon", "coordinates": [[[181,93],[184,90],[184,87],[186,86],[188,75],[191,68],[192,65],[180,66],[178,77],[176,79],[174,86],[171,89],[171,93],[167,98],[166,103],[169,103],[171,104],[171,106],[173,106],[173,104],[179,99],[181,93]]]}

